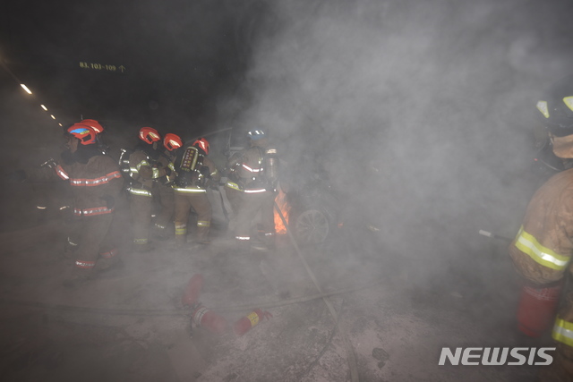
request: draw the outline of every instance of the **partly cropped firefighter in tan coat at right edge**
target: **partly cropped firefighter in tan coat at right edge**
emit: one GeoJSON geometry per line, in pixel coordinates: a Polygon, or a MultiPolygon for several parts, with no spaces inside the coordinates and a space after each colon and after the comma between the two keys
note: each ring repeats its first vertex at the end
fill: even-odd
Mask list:
{"type": "MultiPolygon", "coordinates": [[[[573,158],[573,76],[554,84],[537,102],[537,109],[555,155],[573,158]]],[[[517,237],[509,246],[509,255],[526,286],[544,295],[560,289],[572,270],[572,254],[573,169],[569,169],[554,174],[535,192],[517,237]]],[[[573,380],[573,291],[569,285],[561,293],[552,329],[556,357],[550,367],[542,370],[543,381],[573,380]]]]}

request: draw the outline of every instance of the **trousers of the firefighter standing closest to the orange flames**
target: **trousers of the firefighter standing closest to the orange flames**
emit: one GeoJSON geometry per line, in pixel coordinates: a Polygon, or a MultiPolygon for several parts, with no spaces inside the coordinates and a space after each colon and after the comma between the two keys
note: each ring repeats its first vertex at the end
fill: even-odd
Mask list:
{"type": "Polygon", "coordinates": [[[252,241],[252,221],[261,211],[261,228],[265,244],[269,249],[275,246],[275,193],[271,191],[249,193],[245,191],[241,198],[241,208],[237,214],[235,239],[240,246],[252,241]]]}

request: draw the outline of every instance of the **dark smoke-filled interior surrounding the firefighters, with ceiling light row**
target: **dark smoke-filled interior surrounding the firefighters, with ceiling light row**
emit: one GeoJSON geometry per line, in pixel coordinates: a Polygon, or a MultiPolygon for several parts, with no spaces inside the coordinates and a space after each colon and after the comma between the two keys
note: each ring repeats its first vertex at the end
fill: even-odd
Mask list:
{"type": "Polygon", "coordinates": [[[0,5],[0,378],[569,380],[547,377],[568,276],[532,309],[509,247],[535,192],[569,168],[536,105],[573,74],[572,7],[0,5]],[[85,119],[118,169],[145,126],[209,141],[222,177],[205,191],[208,245],[192,210],[183,247],[172,218],[133,250],[124,187],[121,266],[64,286],[73,183],[18,174],[64,163],[64,131],[85,119]],[[225,182],[253,129],[277,150],[276,233],[261,245],[260,212],[240,250],[225,182]]]}

